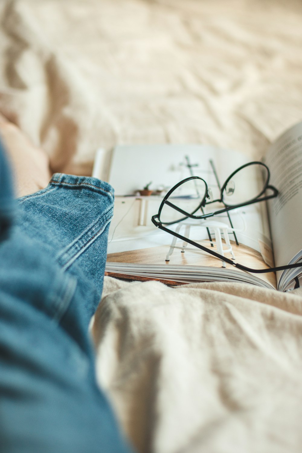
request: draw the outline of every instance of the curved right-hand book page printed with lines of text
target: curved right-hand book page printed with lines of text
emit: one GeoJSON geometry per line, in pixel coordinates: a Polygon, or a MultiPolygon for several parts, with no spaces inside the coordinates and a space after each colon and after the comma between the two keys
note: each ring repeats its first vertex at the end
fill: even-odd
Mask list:
{"type": "MultiPolygon", "coordinates": [[[[268,203],[275,265],[294,263],[302,255],[302,123],[287,130],[265,156],[270,183],[279,191],[268,203]]],[[[278,272],[281,290],[301,269],[278,272]]]]}

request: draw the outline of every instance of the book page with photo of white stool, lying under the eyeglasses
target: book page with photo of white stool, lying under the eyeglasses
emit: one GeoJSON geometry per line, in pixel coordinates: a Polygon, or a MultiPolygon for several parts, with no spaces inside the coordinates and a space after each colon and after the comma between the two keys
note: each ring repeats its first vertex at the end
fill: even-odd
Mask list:
{"type": "MultiPolygon", "coordinates": [[[[203,145],[117,147],[112,157],[109,178],[117,196],[109,231],[107,269],[117,262],[136,263],[145,268],[157,265],[163,266],[161,272],[168,275],[168,266],[170,269],[171,266],[191,266],[196,269],[202,266],[216,268],[220,271],[221,279],[227,279],[229,274],[226,274],[226,269],[234,270],[234,266],[226,264],[223,268],[222,260],[205,251],[190,244],[183,247],[183,241],[175,240],[172,234],[156,228],[151,217],[157,214],[167,191],[192,174],[206,181],[214,199],[220,198],[220,188],[225,180],[247,162],[244,155],[235,151],[203,145]],[[140,195],[139,189],[148,183],[153,194],[140,195]]],[[[261,186],[263,181],[256,174],[249,181],[241,181],[240,194],[247,199],[253,198],[252,194],[260,191],[259,184],[261,186]]],[[[194,211],[200,202],[193,183],[185,192],[173,193],[173,200],[188,212],[194,211]]],[[[223,205],[219,202],[210,203],[205,207],[205,212],[215,212],[221,207],[223,205]]],[[[175,221],[179,212],[173,211],[171,216],[169,221],[175,221]]],[[[242,265],[254,269],[273,265],[265,203],[236,208],[229,212],[229,217],[224,212],[206,220],[187,219],[169,228],[210,250],[220,253],[222,249],[225,257],[233,258],[242,265]]],[[[274,274],[262,274],[260,278],[276,286],[274,274]]],[[[244,275],[242,280],[245,280],[244,275]]]]}

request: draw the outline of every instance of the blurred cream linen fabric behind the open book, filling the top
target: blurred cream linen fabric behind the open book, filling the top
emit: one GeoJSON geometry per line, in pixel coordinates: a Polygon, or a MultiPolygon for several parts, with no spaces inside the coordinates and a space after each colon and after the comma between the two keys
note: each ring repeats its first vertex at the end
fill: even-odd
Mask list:
{"type": "Polygon", "coordinates": [[[54,172],[117,144],[259,158],[301,120],[301,20],[299,0],[3,0],[0,109],[54,172]]]}

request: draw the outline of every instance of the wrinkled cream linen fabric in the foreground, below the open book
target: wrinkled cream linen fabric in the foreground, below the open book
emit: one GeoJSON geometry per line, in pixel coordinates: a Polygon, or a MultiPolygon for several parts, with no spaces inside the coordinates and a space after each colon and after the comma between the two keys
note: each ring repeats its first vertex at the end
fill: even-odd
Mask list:
{"type": "Polygon", "coordinates": [[[139,452],[301,452],[302,291],[105,277],[98,378],[139,452]]]}

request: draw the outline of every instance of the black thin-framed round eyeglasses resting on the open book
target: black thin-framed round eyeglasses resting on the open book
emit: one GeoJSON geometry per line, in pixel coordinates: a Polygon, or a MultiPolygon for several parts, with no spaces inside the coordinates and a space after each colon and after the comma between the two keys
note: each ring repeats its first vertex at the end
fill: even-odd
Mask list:
{"type": "Polygon", "coordinates": [[[178,222],[185,221],[188,218],[202,220],[208,219],[219,214],[240,207],[245,207],[253,203],[269,200],[275,198],[278,195],[278,190],[269,184],[270,173],[267,165],[263,162],[249,162],[236,169],[230,176],[225,180],[225,183],[221,186],[220,197],[214,199],[211,193],[211,189],[208,188],[207,183],[204,179],[199,176],[191,176],[183,179],[171,188],[163,198],[158,213],[152,216],[151,220],[155,226],[160,228],[167,233],[176,236],[178,239],[187,242],[202,251],[205,251],[228,264],[231,264],[238,269],[245,270],[252,273],[262,274],[266,272],[276,272],[278,270],[292,269],[295,267],[302,267],[302,263],[294,263],[291,265],[284,265],[278,267],[272,267],[269,269],[252,269],[239,263],[235,263],[233,260],[220,255],[211,248],[202,246],[201,244],[192,241],[191,239],[180,235],[179,233],[171,230],[168,226],[178,222]],[[259,179],[254,184],[254,193],[251,193],[250,187],[247,190],[246,181],[251,181],[251,175],[258,174],[259,179]],[[196,205],[192,209],[192,203],[196,205]],[[186,204],[190,202],[190,212],[186,210],[186,204]],[[223,207],[214,210],[213,212],[205,213],[203,208],[210,205],[211,203],[220,202],[223,207]]]}

